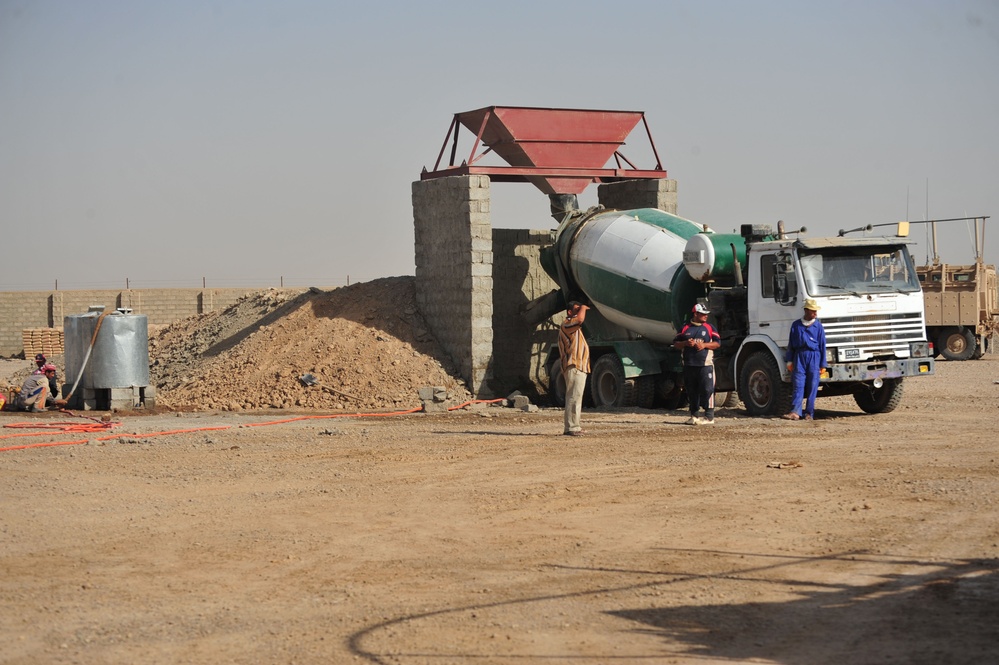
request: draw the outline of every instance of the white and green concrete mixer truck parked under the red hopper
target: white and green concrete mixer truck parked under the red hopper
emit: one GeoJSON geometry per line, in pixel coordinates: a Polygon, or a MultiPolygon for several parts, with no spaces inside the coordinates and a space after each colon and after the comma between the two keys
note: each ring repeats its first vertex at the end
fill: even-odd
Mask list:
{"type": "MultiPolygon", "coordinates": [[[[805,298],[820,303],[827,336],[820,397],[852,395],[864,412],[887,413],[899,405],[906,377],[933,374],[905,239],[808,238],[782,227],[715,233],[651,208],[569,214],[541,263],[559,285],[547,296],[549,315],[558,309],[553,302],[592,305],[585,324],[592,403],[676,408],[682,367],[671,342],[697,302],[711,310],[722,339],[716,391],[737,391],[753,416],[790,410],[784,350],[805,298]]],[[[549,392],[563,403],[557,349],[546,367],[549,392]]]]}

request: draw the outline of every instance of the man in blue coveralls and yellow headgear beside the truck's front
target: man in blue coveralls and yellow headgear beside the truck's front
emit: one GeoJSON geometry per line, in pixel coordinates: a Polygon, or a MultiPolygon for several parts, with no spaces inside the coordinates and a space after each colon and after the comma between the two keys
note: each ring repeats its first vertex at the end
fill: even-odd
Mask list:
{"type": "Polygon", "coordinates": [[[791,411],[782,418],[800,420],[801,400],[805,399],[804,419],[815,417],[815,394],[819,376],[826,367],[826,331],[818,319],[819,304],[812,298],[805,301],[804,315],[791,324],[787,341],[787,371],[791,372],[791,411]]]}

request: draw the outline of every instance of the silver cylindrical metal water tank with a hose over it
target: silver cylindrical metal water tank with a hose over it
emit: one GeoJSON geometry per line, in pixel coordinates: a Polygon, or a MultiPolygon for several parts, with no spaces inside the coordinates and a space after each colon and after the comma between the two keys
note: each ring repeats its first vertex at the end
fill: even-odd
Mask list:
{"type": "Polygon", "coordinates": [[[69,408],[106,411],[152,406],[145,315],[90,311],[65,317],[63,330],[67,394],[79,377],[69,408]]]}

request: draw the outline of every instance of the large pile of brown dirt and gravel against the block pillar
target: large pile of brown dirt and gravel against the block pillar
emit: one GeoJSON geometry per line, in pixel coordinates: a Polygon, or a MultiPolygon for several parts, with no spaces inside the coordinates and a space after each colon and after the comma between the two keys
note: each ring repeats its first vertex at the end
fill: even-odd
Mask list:
{"type": "Polygon", "coordinates": [[[151,334],[149,354],[156,403],[168,408],[410,409],[423,386],[470,399],[420,315],[413,277],[248,294],[151,334]]]}

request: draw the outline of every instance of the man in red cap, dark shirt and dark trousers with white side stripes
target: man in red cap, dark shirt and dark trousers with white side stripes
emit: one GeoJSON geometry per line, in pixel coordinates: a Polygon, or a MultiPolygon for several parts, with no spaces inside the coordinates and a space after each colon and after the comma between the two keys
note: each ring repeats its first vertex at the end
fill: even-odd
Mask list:
{"type": "Polygon", "coordinates": [[[721,337],[708,323],[708,308],[698,303],[690,313],[690,323],[673,339],[673,348],[682,351],[683,383],[690,402],[688,425],[715,424],[715,349],[721,337]],[[697,412],[704,407],[704,417],[697,412]]]}

